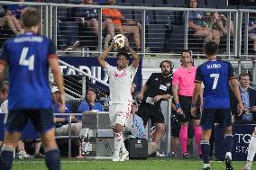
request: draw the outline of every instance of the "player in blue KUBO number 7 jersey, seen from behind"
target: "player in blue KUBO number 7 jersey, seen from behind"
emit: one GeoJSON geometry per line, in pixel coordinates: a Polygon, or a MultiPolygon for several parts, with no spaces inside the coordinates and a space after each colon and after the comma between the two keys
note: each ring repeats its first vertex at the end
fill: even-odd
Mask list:
{"type": "Polygon", "coordinates": [[[237,98],[237,111],[242,112],[242,100],[238,88],[236,76],[233,75],[232,65],[224,60],[216,58],[218,45],[214,40],[209,40],[204,45],[204,52],[207,61],[197,67],[195,89],[191,103],[191,114],[196,113],[197,97],[201,92],[202,83],[204,83],[203,94],[203,112],[201,117],[202,127],[202,157],[204,160],[203,170],[209,170],[209,155],[212,128],[215,121],[224,130],[224,152],[226,170],[233,170],[231,165],[233,133],[232,133],[232,116],[230,110],[229,84],[232,87],[233,94],[237,98]]]}

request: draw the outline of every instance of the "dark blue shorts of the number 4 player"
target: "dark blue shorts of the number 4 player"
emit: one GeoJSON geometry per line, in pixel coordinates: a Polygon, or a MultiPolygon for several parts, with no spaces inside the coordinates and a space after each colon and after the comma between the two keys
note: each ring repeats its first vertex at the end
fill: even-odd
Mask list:
{"type": "Polygon", "coordinates": [[[22,132],[28,121],[41,134],[55,127],[52,109],[21,109],[9,111],[5,116],[5,130],[22,132]]]}

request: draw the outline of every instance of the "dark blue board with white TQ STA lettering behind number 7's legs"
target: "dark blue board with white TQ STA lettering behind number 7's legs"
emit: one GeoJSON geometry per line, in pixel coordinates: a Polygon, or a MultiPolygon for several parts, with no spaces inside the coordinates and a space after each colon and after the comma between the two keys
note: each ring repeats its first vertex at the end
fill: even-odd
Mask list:
{"type": "MultiPolygon", "coordinates": [[[[233,153],[234,161],[246,161],[248,146],[255,124],[233,124],[233,153]]],[[[224,160],[224,134],[218,126],[215,128],[215,158],[224,160]]],[[[256,157],[254,157],[256,160],[256,157]]]]}

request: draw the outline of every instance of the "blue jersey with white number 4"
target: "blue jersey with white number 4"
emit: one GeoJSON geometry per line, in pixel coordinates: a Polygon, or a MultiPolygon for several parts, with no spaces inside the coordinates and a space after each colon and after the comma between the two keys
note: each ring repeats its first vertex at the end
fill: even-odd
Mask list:
{"type": "Polygon", "coordinates": [[[51,108],[49,58],[58,58],[52,40],[27,32],[6,40],[0,62],[9,65],[9,111],[51,108]]]}

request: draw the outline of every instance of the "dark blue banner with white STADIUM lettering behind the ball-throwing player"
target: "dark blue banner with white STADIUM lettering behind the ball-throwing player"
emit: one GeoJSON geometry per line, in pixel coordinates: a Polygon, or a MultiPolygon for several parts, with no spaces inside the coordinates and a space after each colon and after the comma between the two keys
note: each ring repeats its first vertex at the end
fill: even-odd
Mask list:
{"type": "MultiPolygon", "coordinates": [[[[77,67],[78,69],[87,72],[87,74],[94,76],[98,79],[101,79],[105,83],[108,83],[108,76],[105,74],[105,71],[102,69],[102,67],[99,66],[97,58],[92,57],[59,57],[60,60],[69,63],[69,65],[72,65],[74,67],[77,67]]],[[[111,65],[116,67],[116,58],[106,58],[106,61],[111,65]]],[[[133,59],[131,59],[130,63],[133,62],[133,59]]],[[[67,67],[67,66],[61,66],[60,69],[64,75],[80,75],[78,71],[67,67]]],[[[142,58],[140,60],[140,65],[138,67],[138,71],[136,73],[136,76],[134,77],[133,81],[136,86],[136,91],[140,91],[142,87],[142,58]]],[[[92,84],[97,84],[96,81],[91,81],[92,84]]],[[[101,84],[97,84],[101,85],[101,84]]]]}

